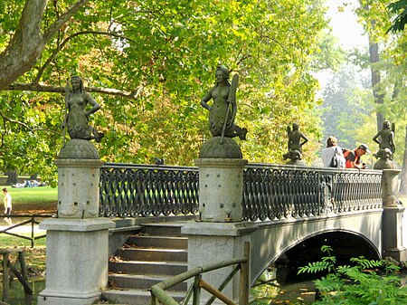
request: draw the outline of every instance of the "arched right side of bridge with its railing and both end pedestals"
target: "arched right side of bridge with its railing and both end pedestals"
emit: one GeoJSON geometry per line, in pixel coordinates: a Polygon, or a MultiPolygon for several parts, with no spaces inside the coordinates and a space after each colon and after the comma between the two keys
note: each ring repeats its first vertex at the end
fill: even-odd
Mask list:
{"type": "MultiPolygon", "coordinates": [[[[248,167],[243,160],[222,165],[202,160],[198,166],[200,222],[182,229],[188,236],[189,268],[239,257],[242,244],[250,242],[252,284],[281,254],[321,236],[335,236],[347,250],[357,245],[355,256],[407,258],[404,208],[395,195],[399,170],[248,167]],[[233,205],[239,194],[241,209],[233,205]]],[[[219,286],[227,272],[205,274],[205,281],[219,286]]],[[[238,300],[238,291],[236,279],[226,293],[238,300]]]]}

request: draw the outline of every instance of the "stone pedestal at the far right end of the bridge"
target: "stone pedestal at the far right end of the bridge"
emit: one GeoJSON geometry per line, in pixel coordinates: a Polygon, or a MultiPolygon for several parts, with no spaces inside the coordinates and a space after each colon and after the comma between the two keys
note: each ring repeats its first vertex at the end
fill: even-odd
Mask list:
{"type": "Polygon", "coordinates": [[[383,169],[383,257],[390,256],[401,262],[407,260],[407,250],[402,244],[402,214],[404,207],[397,199],[400,169],[383,169]]]}

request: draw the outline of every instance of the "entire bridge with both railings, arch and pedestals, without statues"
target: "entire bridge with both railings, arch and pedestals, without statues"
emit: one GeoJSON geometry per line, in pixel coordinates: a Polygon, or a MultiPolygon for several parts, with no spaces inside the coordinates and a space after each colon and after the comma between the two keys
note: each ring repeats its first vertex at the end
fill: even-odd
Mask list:
{"type": "MultiPolygon", "coordinates": [[[[55,163],[58,217],[42,224],[47,230],[42,305],[91,304],[99,298],[100,287],[107,285],[111,217],[194,216],[182,228],[188,268],[241,257],[243,243],[249,242],[251,283],[282,253],[321,236],[335,236],[346,247],[361,245],[374,258],[406,260],[404,208],[396,196],[400,170],[209,158],[197,160],[198,167],[102,165],[99,159],[71,158],[55,163]],[[98,184],[99,190],[92,187],[98,184]]],[[[208,272],[204,280],[219,287],[230,272],[229,267],[208,272]]],[[[224,293],[238,300],[238,276],[232,282],[224,293]]]]}

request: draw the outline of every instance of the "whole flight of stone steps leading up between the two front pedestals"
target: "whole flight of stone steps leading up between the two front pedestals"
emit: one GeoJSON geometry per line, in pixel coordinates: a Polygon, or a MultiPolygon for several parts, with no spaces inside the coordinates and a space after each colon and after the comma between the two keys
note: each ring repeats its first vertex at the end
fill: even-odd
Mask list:
{"type": "MultiPolygon", "coordinates": [[[[120,304],[150,304],[151,286],[186,272],[188,240],[180,236],[184,224],[142,224],[139,234],[128,236],[118,255],[110,259],[109,288],[102,298],[120,304]]],[[[182,282],[172,287],[170,295],[181,301],[186,290],[182,282]]]]}

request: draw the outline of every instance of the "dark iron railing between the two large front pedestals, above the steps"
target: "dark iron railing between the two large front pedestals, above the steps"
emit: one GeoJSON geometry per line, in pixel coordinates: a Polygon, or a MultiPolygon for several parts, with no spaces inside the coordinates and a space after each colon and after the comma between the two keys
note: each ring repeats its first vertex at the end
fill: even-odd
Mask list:
{"type": "Polygon", "coordinates": [[[195,214],[198,168],[107,163],[100,168],[100,216],[195,214]]]}

